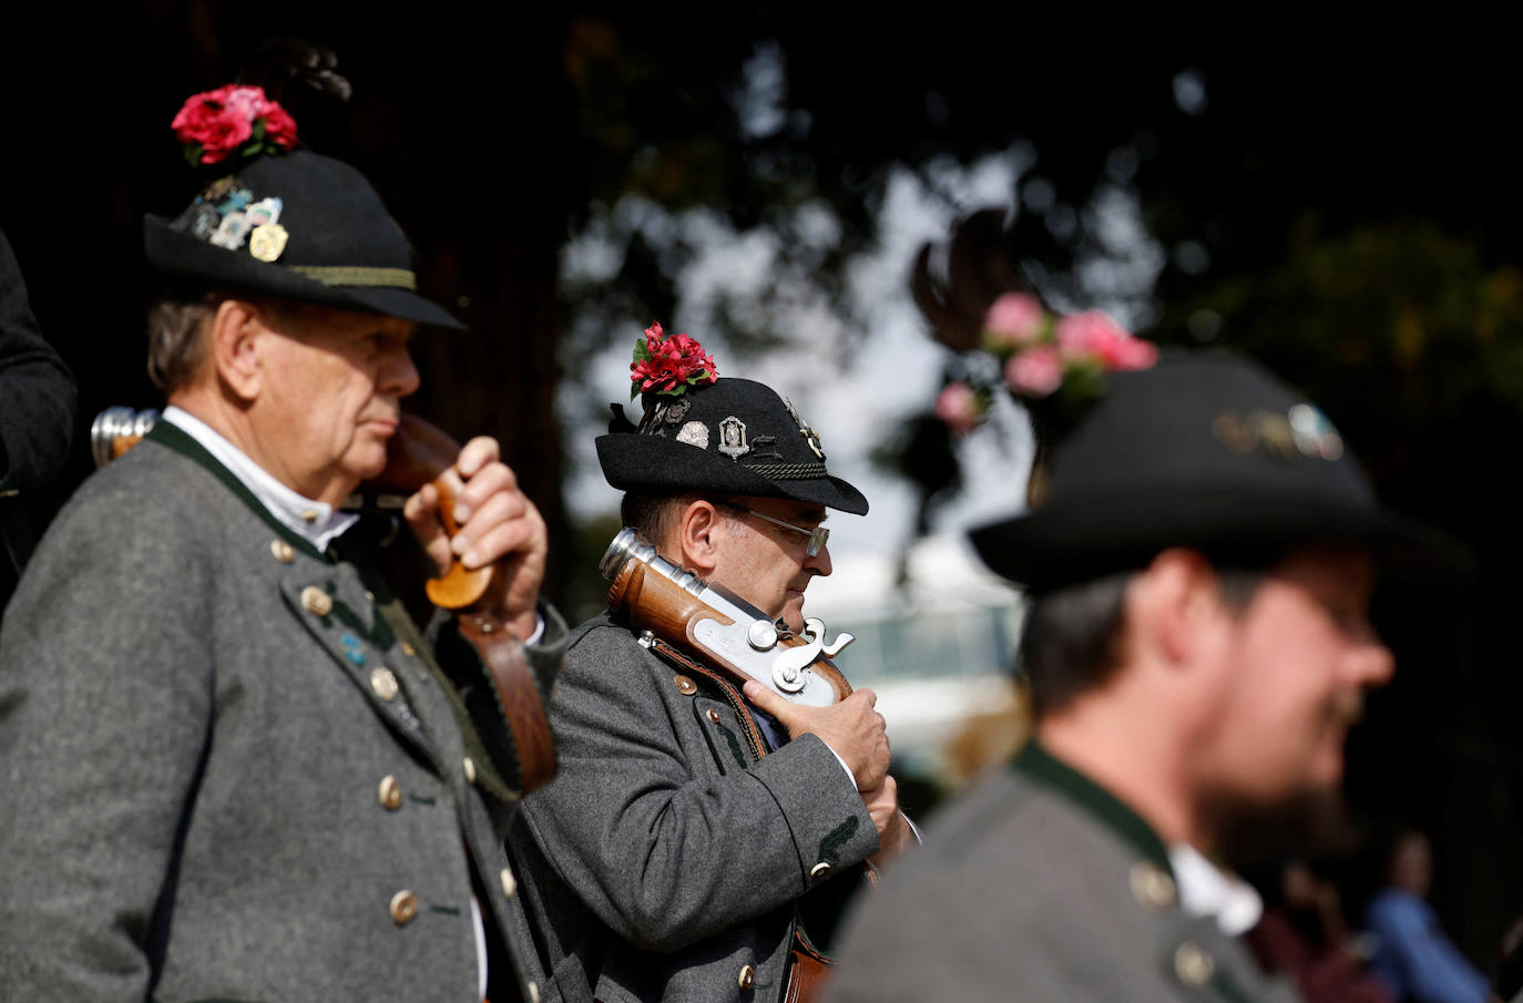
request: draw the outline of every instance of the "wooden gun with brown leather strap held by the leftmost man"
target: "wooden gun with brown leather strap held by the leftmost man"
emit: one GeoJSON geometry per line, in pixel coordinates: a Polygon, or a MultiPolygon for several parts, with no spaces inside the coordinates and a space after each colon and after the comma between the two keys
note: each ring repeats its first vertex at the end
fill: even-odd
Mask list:
{"type": "MultiPolygon", "coordinates": [[[[107,408],[90,426],[90,451],[96,466],[105,466],[142,441],[158,420],[158,411],[107,408]]],[[[361,486],[362,495],[376,498],[378,508],[401,510],[405,496],[433,482],[439,490],[439,514],[445,531],[455,534],[455,498],[443,472],[454,466],[460,444],[423,419],[404,414],[396,435],[387,443],[387,466],[361,486]]],[[[516,746],[522,793],[538,790],[556,775],[554,738],[545,715],[539,686],[518,638],[490,615],[490,600],[500,581],[496,566],[466,571],[455,559],[449,571],[429,578],[423,591],[434,606],[457,615],[457,630],[481,658],[492,676],[498,705],[516,746]]]]}

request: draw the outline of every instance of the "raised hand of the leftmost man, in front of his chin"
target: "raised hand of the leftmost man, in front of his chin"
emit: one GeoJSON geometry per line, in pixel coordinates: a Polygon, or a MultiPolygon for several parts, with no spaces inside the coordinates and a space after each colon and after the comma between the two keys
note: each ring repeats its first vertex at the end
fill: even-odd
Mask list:
{"type": "Polygon", "coordinates": [[[493,438],[472,438],[442,476],[455,499],[454,537],[445,533],[439,489],[433,484],[408,498],[402,514],[440,574],[455,557],[468,571],[500,562],[496,587],[486,597],[487,612],[519,638],[528,638],[545,577],[545,521],[518,489],[513,472],[498,460],[493,438]]]}

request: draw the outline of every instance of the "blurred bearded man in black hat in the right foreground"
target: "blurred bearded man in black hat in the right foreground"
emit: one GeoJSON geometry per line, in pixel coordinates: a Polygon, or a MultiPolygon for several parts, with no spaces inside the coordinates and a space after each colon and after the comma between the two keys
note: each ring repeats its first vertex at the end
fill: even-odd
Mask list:
{"type": "Polygon", "coordinates": [[[1253,365],[1113,373],[1045,504],[973,534],[1027,586],[1034,738],[949,807],[848,933],[841,1001],[1292,1000],[1208,857],[1244,810],[1336,785],[1390,653],[1377,559],[1430,554],[1333,426],[1253,365]]]}

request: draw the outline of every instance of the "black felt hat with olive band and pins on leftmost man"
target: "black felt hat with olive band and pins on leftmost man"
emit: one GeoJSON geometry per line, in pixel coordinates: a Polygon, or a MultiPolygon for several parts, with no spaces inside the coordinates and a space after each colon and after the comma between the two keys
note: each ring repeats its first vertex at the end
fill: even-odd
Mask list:
{"type": "Polygon", "coordinates": [[[417,294],[407,236],[366,177],[309,151],[239,166],[175,219],[145,216],[143,244],[177,279],[463,329],[417,294]]]}

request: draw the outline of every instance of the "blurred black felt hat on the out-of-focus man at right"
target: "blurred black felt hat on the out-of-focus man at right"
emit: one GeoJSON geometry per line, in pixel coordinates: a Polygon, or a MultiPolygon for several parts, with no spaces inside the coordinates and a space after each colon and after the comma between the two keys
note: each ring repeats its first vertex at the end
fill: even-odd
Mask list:
{"type": "Polygon", "coordinates": [[[1224,355],[1110,374],[1054,443],[1037,507],[970,536],[993,571],[1037,589],[1141,568],[1170,546],[1272,556],[1346,542],[1407,569],[1465,565],[1456,545],[1380,507],[1316,406],[1224,355]]]}

